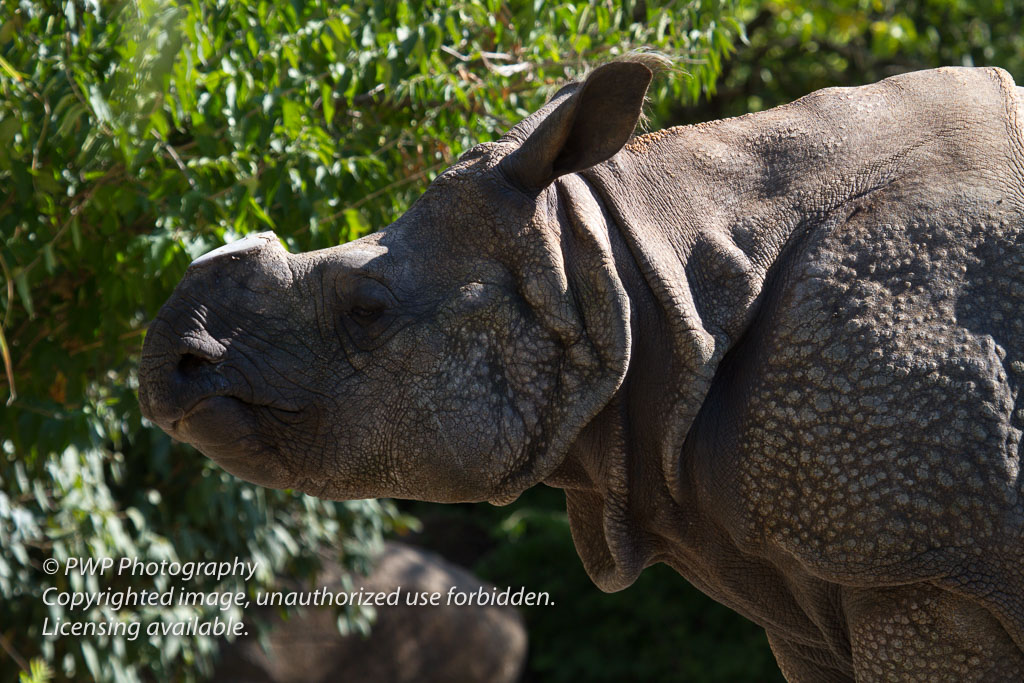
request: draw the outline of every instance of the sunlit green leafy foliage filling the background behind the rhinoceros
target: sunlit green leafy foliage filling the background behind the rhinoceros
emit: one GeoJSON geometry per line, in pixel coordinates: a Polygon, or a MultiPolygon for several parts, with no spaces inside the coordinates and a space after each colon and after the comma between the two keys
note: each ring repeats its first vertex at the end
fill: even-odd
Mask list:
{"type": "MultiPolygon", "coordinates": [[[[324,546],[365,566],[412,523],[387,502],[240,482],[141,420],[146,322],[199,254],[251,230],[307,250],[384,225],[463,151],[632,48],[681,66],[651,93],[660,127],[943,63],[1020,82],[1022,25],[1011,0],[0,1],[0,676],[34,658],[74,679],[211,671],[204,639],[43,638],[65,614],[41,591],[81,583],[46,577],[47,557],[239,555],[261,560],[257,590],[309,575],[324,546]]],[[[763,635],[678,578],[597,593],[548,494],[415,508],[474,518],[493,581],[562,596],[527,614],[528,676],[617,680],[640,650],[647,680],[777,675],[763,635]]]]}

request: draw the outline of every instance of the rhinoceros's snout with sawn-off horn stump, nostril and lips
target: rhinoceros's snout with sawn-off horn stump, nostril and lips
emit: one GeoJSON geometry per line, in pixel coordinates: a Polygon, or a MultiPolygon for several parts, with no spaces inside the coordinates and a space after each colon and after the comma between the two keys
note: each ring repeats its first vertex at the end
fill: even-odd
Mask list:
{"type": "Polygon", "coordinates": [[[138,378],[143,416],[237,476],[275,488],[297,481],[267,425],[304,415],[284,390],[293,383],[266,381],[294,374],[273,365],[287,355],[275,351],[295,310],[290,258],[276,236],[261,232],[193,261],[150,326],[138,378]],[[274,331],[272,310],[282,311],[274,331]]]}

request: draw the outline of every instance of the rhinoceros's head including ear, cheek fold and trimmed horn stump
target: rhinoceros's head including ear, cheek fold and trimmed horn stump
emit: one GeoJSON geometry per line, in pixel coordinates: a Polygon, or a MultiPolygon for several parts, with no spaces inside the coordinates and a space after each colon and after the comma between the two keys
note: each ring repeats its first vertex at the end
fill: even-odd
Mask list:
{"type": "Polygon", "coordinates": [[[324,498],[506,502],[543,480],[630,346],[608,218],[567,174],[618,152],[650,78],[597,69],[361,240],[290,254],[264,232],[200,257],[146,335],[142,413],[324,498]]]}

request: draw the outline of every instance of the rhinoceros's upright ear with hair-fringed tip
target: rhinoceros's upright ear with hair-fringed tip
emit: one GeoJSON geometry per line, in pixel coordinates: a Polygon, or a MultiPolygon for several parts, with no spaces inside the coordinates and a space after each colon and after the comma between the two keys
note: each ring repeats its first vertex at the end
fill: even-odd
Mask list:
{"type": "Polygon", "coordinates": [[[582,84],[555,96],[554,109],[502,161],[502,170],[523,189],[540,190],[560,175],[610,159],[633,134],[651,78],[636,61],[598,67],[582,84]]]}

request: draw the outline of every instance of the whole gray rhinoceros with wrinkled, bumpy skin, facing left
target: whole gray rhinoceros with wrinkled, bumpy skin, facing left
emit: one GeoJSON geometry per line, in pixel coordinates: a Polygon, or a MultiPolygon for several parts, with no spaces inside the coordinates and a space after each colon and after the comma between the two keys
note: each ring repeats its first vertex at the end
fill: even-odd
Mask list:
{"type": "Polygon", "coordinates": [[[362,240],[198,260],[144,414],[326,498],[562,487],[599,587],[667,562],[791,680],[1021,680],[1018,89],[920,72],[630,140],[649,80],[596,70],[362,240]]]}

